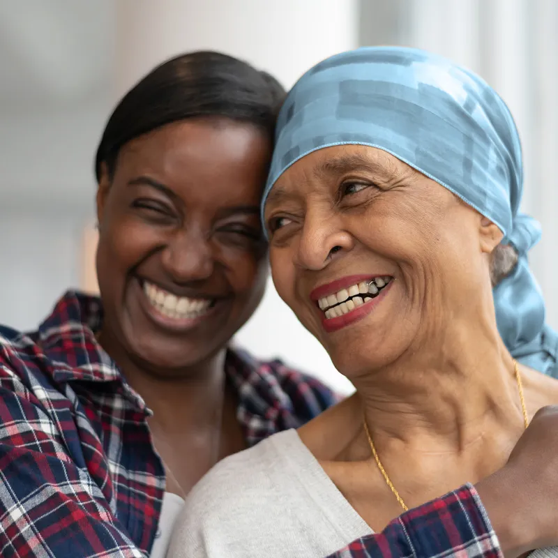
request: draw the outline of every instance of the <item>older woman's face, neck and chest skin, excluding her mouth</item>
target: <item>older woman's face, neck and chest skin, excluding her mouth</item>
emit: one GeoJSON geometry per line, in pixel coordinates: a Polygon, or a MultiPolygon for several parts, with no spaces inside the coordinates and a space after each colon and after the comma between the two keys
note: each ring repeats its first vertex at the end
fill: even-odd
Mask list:
{"type": "MultiPolygon", "coordinates": [[[[285,171],[265,208],[273,280],[356,394],[299,430],[375,531],[400,515],[371,457],[412,508],[501,469],[524,431],[490,282],[496,225],[389,153],[334,146],[285,171]],[[372,311],[336,331],[310,298],[352,275],[390,276],[372,311]]],[[[529,416],[558,382],[521,367],[529,416]]]]}

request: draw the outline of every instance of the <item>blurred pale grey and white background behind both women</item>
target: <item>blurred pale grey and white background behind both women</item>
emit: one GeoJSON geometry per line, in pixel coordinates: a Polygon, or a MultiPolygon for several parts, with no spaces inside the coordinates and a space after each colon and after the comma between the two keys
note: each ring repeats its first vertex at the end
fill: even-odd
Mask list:
{"type": "MultiPolygon", "coordinates": [[[[66,288],[96,288],[93,154],[116,100],[157,63],[221,50],[289,87],[329,54],[392,44],[465,64],[511,107],[523,209],[544,231],[531,262],[558,327],[557,29],[556,0],[2,0],[0,322],[34,328],[66,288]]],[[[271,282],[238,341],[350,389],[271,282]]]]}

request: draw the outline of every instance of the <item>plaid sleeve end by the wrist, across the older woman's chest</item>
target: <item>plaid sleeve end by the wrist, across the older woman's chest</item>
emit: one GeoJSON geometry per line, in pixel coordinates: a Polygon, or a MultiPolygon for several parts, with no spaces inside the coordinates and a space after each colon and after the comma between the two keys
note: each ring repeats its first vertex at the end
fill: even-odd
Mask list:
{"type": "Polygon", "coordinates": [[[473,485],[409,510],[328,558],[504,558],[473,485]]]}

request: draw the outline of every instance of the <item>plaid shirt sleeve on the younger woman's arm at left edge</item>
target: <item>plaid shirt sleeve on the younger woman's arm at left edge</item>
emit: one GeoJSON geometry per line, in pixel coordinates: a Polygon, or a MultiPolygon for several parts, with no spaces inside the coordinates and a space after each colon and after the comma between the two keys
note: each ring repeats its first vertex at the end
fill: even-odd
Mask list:
{"type": "Polygon", "coordinates": [[[80,440],[64,429],[75,418],[62,398],[29,387],[0,363],[0,556],[144,558],[107,502],[112,489],[70,457],[80,440]]]}

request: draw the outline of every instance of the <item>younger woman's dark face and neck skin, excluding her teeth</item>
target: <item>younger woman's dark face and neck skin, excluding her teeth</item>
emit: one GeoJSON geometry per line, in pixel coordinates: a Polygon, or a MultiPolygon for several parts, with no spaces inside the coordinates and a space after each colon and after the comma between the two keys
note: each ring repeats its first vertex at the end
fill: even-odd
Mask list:
{"type": "Polygon", "coordinates": [[[128,142],[98,186],[100,342],[153,409],[153,437],[178,494],[243,448],[223,362],[264,293],[258,205],[270,153],[255,126],[188,119],[128,142]],[[193,324],[163,323],[145,280],[214,308],[193,324]]]}

